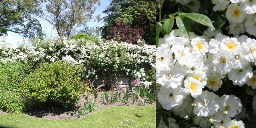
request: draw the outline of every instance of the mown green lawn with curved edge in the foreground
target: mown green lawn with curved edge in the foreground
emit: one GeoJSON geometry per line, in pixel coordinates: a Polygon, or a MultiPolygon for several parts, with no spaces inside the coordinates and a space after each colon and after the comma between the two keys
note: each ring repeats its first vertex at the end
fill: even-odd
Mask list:
{"type": "Polygon", "coordinates": [[[24,114],[0,114],[0,127],[8,128],[153,128],[156,106],[106,107],[75,120],[46,120],[24,114]]]}

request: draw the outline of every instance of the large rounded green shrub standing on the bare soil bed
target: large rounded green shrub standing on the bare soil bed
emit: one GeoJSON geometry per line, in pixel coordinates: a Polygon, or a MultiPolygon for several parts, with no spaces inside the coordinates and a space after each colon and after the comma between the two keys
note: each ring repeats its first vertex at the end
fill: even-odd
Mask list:
{"type": "Polygon", "coordinates": [[[24,90],[28,90],[29,98],[36,99],[40,106],[44,103],[74,104],[85,91],[79,71],[79,66],[61,61],[43,64],[29,74],[24,90]]]}

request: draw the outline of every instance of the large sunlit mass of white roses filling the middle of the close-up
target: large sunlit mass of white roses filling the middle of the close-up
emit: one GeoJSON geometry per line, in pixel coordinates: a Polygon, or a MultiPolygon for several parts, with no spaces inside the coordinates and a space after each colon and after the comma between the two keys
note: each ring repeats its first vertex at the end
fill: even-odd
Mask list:
{"type": "Polygon", "coordinates": [[[256,74],[253,75],[251,66],[256,62],[256,40],[245,35],[230,38],[211,29],[204,33],[213,37],[209,43],[204,36],[193,32],[188,38],[179,29],[159,39],[156,49],[156,83],[161,86],[158,102],[183,118],[195,114],[194,123],[200,127],[244,128],[242,121],[231,120],[242,112],[238,97],[219,97],[203,89],[206,86],[217,91],[227,78],[234,85],[248,84],[255,89],[256,74]]]}

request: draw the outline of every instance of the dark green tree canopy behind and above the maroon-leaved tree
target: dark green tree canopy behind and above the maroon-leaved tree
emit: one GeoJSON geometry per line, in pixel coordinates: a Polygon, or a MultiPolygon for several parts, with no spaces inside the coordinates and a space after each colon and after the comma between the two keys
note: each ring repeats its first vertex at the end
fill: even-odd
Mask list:
{"type": "Polygon", "coordinates": [[[103,26],[101,35],[106,38],[109,35],[111,25],[117,26],[116,22],[130,21],[130,27],[142,28],[146,32],[145,40],[155,44],[156,40],[156,7],[153,1],[139,0],[112,0],[111,4],[104,11],[108,16],[103,17],[105,26],[103,26]]]}

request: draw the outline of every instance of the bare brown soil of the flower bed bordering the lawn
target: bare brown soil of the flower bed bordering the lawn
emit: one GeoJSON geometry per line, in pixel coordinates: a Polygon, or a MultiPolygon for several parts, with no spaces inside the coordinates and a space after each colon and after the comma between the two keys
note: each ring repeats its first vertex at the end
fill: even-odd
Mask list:
{"type": "MultiPolygon", "coordinates": [[[[120,101],[117,101],[115,103],[110,103],[111,100],[111,96],[109,96],[109,102],[105,103],[101,97],[103,91],[99,92],[98,98],[96,98],[95,103],[97,105],[97,109],[96,112],[100,111],[101,108],[104,107],[115,107],[115,106],[120,106],[120,101]]],[[[112,92],[109,92],[109,95],[111,95],[112,92]]],[[[113,94],[116,94],[116,91],[113,91],[113,94]]],[[[121,94],[121,97],[124,97],[124,92],[121,94]]],[[[141,103],[141,99],[142,97],[139,97],[138,99],[136,99],[136,101],[133,103],[132,102],[132,92],[130,92],[130,97],[129,97],[129,101],[128,102],[124,102],[122,103],[121,106],[142,106],[141,103]]],[[[88,97],[85,96],[85,94],[83,94],[80,98],[80,100],[78,101],[77,104],[72,105],[72,106],[68,106],[68,107],[45,107],[45,108],[36,108],[36,109],[32,109],[29,110],[27,112],[23,112],[22,114],[26,114],[28,116],[32,116],[32,117],[37,117],[37,118],[43,118],[43,119],[50,119],[50,120],[61,120],[61,119],[77,119],[78,117],[78,113],[76,110],[77,106],[83,107],[84,106],[84,102],[86,102],[87,100],[93,100],[94,99],[94,95],[92,93],[88,94],[88,97]],[[70,115],[68,115],[70,113],[70,115]]],[[[144,98],[145,99],[145,98],[144,98]]],[[[156,105],[156,101],[153,101],[152,104],[150,104],[149,101],[147,101],[144,106],[149,106],[149,105],[156,105]]],[[[3,111],[0,111],[0,113],[5,113],[3,111]]],[[[88,113],[87,115],[92,114],[92,112],[88,113]]],[[[87,115],[84,115],[82,117],[85,117],[87,115]]]]}

